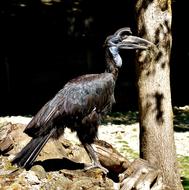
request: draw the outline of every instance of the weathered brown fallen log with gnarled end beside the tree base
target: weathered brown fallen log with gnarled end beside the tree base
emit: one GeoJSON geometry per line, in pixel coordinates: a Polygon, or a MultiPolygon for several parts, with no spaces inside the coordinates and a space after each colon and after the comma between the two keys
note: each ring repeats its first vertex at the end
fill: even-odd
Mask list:
{"type": "Polygon", "coordinates": [[[101,164],[119,176],[120,190],[163,189],[161,171],[146,160],[138,158],[131,163],[109,143],[97,140],[94,144],[101,164]]]}

